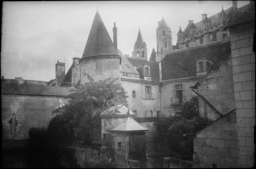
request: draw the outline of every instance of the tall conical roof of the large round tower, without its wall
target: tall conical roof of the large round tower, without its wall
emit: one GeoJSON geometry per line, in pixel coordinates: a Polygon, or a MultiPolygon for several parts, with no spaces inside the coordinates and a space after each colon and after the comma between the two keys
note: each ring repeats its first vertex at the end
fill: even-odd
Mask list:
{"type": "Polygon", "coordinates": [[[82,58],[104,55],[118,55],[118,53],[97,10],[82,58]]]}

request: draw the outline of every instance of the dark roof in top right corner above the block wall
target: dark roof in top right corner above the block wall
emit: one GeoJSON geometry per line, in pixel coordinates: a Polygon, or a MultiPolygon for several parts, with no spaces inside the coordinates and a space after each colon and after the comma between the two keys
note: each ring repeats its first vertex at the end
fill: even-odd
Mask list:
{"type": "Polygon", "coordinates": [[[237,17],[231,18],[227,27],[231,26],[231,25],[236,25],[236,24],[247,22],[247,21],[255,20],[255,6],[254,6],[254,4],[248,4],[248,5],[245,5],[245,6],[248,6],[249,8],[245,9],[244,11],[241,10],[241,13],[237,17]]]}

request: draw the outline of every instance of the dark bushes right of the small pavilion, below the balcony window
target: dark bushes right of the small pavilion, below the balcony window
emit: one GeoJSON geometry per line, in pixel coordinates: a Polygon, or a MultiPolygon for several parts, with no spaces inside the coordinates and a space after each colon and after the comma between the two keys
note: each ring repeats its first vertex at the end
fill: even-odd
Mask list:
{"type": "Polygon", "coordinates": [[[210,123],[207,118],[199,117],[198,98],[193,96],[188,102],[182,103],[181,112],[176,116],[156,119],[158,135],[154,143],[157,148],[160,145],[166,148],[167,145],[172,155],[187,155],[184,158],[189,160],[193,155],[194,134],[210,123]]]}

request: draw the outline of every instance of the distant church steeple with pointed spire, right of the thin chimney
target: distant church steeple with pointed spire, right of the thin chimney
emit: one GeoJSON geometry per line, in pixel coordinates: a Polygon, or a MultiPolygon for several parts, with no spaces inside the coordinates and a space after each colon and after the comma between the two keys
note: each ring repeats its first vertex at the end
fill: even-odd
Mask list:
{"type": "Polygon", "coordinates": [[[139,28],[139,32],[138,32],[138,36],[137,36],[137,40],[134,44],[134,49],[132,52],[132,57],[136,56],[140,59],[143,60],[148,60],[148,52],[147,52],[147,44],[145,41],[143,41],[141,32],[140,32],[140,28],[139,28]]]}

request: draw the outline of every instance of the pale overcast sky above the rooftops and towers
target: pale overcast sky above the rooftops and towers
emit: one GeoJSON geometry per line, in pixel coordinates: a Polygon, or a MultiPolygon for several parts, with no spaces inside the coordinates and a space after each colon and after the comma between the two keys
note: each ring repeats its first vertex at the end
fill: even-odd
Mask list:
{"type": "MultiPolygon", "coordinates": [[[[238,7],[249,1],[238,1],[238,7]]],[[[94,15],[100,16],[117,46],[132,55],[139,26],[148,48],[148,59],[156,49],[157,22],[162,15],[172,30],[176,45],[179,26],[197,23],[202,13],[210,17],[232,6],[232,1],[77,1],[4,2],[2,13],[1,76],[6,79],[55,79],[55,63],[66,58],[66,73],[72,58],[81,58],[94,15]]]]}

